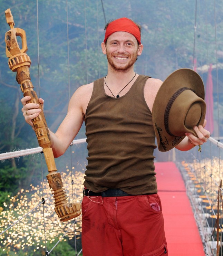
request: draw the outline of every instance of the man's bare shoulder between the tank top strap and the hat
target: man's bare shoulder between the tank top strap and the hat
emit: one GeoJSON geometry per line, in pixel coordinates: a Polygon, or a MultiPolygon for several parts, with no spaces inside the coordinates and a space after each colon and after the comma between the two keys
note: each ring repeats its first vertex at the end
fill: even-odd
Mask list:
{"type": "Polygon", "coordinates": [[[157,78],[148,78],[144,87],[144,97],[149,109],[152,112],[153,103],[156,97],[156,94],[161,87],[163,81],[157,78]]]}

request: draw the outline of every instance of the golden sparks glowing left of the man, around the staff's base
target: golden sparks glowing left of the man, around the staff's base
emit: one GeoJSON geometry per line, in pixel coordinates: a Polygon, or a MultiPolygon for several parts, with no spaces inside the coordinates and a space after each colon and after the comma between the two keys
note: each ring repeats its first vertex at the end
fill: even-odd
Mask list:
{"type": "MultiPolygon", "coordinates": [[[[68,167],[66,167],[68,169],[68,167]]],[[[74,169],[74,168],[72,168],[74,169]]],[[[64,186],[69,184],[71,173],[61,172],[64,186]]],[[[75,172],[75,180],[73,184],[74,201],[81,202],[83,198],[83,172],[75,172]]],[[[41,185],[42,186],[42,185],[41,185]]],[[[30,185],[30,189],[21,189],[17,195],[8,196],[10,203],[4,203],[4,210],[0,212],[0,233],[7,229],[17,219],[24,216],[30,209],[33,209],[41,202],[41,186],[30,185]]],[[[51,192],[47,180],[43,182],[43,190],[45,191],[44,197],[50,198],[51,192]]],[[[66,188],[66,193],[72,194],[71,186],[66,188]]],[[[53,198],[51,197],[45,203],[45,227],[46,227],[46,243],[55,243],[55,237],[62,237],[62,234],[68,230],[72,225],[70,222],[61,222],[54,210],[53,198]]],[[[25,250],[24,255],[32,250],[37,252],[45,248],[44,229],[43,229],[43,216],[40,210],[42,205],[33,210],[29,215],[24,217],[16,225],[8,229],[0,236],[0,248],[6,253],[14,252],[17,254],[19,250],[25,250]]],[[[76,235],[81,233],[81,220],[77,219],[74,226],[72,226],[67,234],[67,238],[63,240],[72,239],[74,237],[74,230],[76,235]]]]}

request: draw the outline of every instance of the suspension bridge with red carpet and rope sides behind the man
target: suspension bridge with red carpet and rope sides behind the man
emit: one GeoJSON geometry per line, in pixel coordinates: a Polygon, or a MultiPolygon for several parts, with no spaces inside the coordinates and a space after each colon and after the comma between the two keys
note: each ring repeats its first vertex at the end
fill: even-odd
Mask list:
{"type": "MultiPolygon", "coordinates": [[[[126,1],[127,2],[127,1],[126,1]]],[[[38,85],[40,95],[41,80],[41,61],[39,59],[39,7],[36,2],[37,17],[37,41],[38,41],[38,85]]],[[[69,31],[69,7],[70,2],[66,4],[66,34],[67,34],[67,77],[68,77],[68,99],[71,96],[71,61],[70,61],[70,42],[71,32],[69,31]]],[[[219,78],[219,70],[222,64],[219,63],[217,53],[217,30],[215,16],[215,1],[212,1],[214,13],[212,23],[215,30],[212,31],[214,38],[214,54],[210,52],[208,42],[209,32],[207,20],[201,20],[200,12],[202,1],[194,1],[194,40],[191,43],[193,51],[192,68],[197,71],[203,80],[206,81],[206,103],[208,129],[213,130],[209,141],[202,145],[202,152],[197,151],[197,147],[188,152],[179,152],[173,149],[169,153],[160,153],[157,155],[156,178],[158,192],[162,201],[163,215],[165,220],[165,232],[168,243],[169,255],[171,256],[214,256],[223,255],[222,253],[222,187],[221,187],[221,167],[223,144],[221,137],[221,104],[220,96],[222,91],[222,82],[219,78]],[[203,24],[203,28],[201,28],[203,24]],[[202,34],[203,33],[203,34],[202,34]],[[206,56],[201,58],[198,48],[201,42],[200,36],[206,38],[202,47],[206,47],[206,56]],[[199,59],[200,58],[200,59],[199,59]],[[204,60],[205,59],[205,60],[204,60]],[[197,65],[197,63],[201,65],[197,65]],[[213,65],[211,63],[214,63],[213,65]],[[212,78],[214,83],[212,84],[212,78]],[[215,108],[216,117],[213,121],[213,91],[216,95],[215,108]],[[212,126],[212,124],[214,125],[212,126]]],[[[204,1],[207,5],[207,2],[204,1]]],[[[89,63],[89,39],[87,30],[87,7],[89,1],[83,2],[83,31],[85,39],[85,63],[86,82],[91,79],[89,63]]],[[[106,5],[103,1],[95,1],[98,12],[106,23],[106,5]]],[[[207,12],[207,7],[206,7],[207,12]]],[[[128,13],[126,13],[127,16],[128,13]]],[[[97,31],[100,31],[99,17],[97,16],[97,31]]],[[[208,14],[206,14],[207,19],[208,14]]],[[[146,26],[144,26],[146,29],[146,26]]],[[[99,40],[99,36],[98,36],[99,40]]],[[[178,53],[179,54],[179,53],[178,53]]],[[[100,63],[100,55],[96,57],[100,63]]],[[[100,64],[98,65],[100,67],[100,64]]],[[[178,68],[176,64],[176,68],[178,68]]],[[[100,77],[100,69],[98,76],[100,77]]],[[[81,202],[83,197],[83,177],[86,162],[77,159],[76,152],[84,152],[87,156],[86,139],[74,140],[66,152],[64,158],[64,169],[60,170],[64,180],[65,189],[70,200],[81,202]],[[69,161],[67,161],[69,159],[69,161]]],[[[47,180],[45,179],[45,163],[42,160],[42,148],[29,148],[25,150],[11,150],[11,152],[1,153],[0,161],[15,159],[18,163],[29,159],[30,162],[40,164],[40,182],[31,184],[30,189],[15,191],[15,195],[10,198],[10,204],[4,205],[0,212],[0,248],[5,255],[16,255],[19,249],[22,249],[23,255],[52,255],[54,249],[58,248],[67,240],[72,241],[69,255],[81,254],[81,217],[61,223],[54,212],[53,198],[50,194],[47,180]],[[28,157],[29,156],[29,157],[28,157]]],[[[61,157],[63,161],[63,157],[61,157]]],[[[68,243],[69,244],[69,243],[68,243]]],[[[64,245],[64,244],[63,244],[64,245]]],[[[3,254],[4,255],[4,254],[3,254]]],[[[63,253],[61,253],[63,255],[63,253]]],[[[111,253],[112,255],[112,253],[111,253]]]]}

